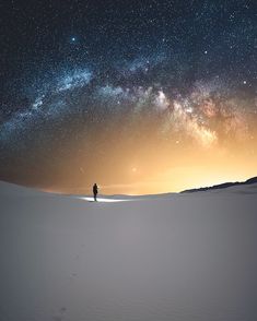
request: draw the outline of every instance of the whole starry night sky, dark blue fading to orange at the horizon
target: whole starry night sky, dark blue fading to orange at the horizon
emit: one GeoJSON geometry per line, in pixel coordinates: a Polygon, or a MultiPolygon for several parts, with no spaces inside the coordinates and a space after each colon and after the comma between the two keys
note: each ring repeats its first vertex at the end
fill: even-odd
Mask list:
{"type": "Polygon", "coordinates": [[[256,1],[1,1],[0,43],[0,179],[143,194],[256,176],[256,1]]]}

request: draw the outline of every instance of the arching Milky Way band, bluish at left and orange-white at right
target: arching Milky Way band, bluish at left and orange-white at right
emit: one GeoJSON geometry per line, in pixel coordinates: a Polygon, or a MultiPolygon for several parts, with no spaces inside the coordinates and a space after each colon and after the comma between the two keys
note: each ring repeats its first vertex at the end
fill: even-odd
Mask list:
{"type": "MultiPolygon", "coordinates": [[[[257,106],[254,93],[244,97],[244,82],[242,96],[233,88],[232,82],[227,85],[226,80],[219,76],[196,81],[183,92],[179,86],[171,85],[170,80],[154,82],[163,61],[153,67],[144,61],[149,60],[137,59],[127,69],[114,68],[115,80],[108,74],[106,78],[94,74],[90,69],[65,72],[50,84],[44,84],[45,91],[1,124],[0,139],[19,148],[16,136],[30,135],[30,128],[43,120],[61,122],[66,116],[79,117],[81,122],[87,121],[92,127],[97,127],[103,117],[109,120],[126,116],[128,123],[133,122],[136,131],[148,118],[157,123],[156,134],[170,140],[176,140],[176,133],[188,135],[207,147],[218,143],[222,133],[238,139],[250,135],[250,114],[256,115],[257,106]],[[151,83],[140,79],[142,72],[152,80],[151,83]],[[90,119],[89,115],[93,118],[90,119]]],[[[55,122],[50,129],[55,129],[55,122]]]]}

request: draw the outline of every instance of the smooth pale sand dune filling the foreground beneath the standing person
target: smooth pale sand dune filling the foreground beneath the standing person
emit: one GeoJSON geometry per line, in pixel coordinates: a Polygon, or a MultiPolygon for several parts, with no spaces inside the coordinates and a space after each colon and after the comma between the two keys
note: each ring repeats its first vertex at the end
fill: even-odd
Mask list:
{"type": "Polygon", "coordinates": [[[256,321],[256,230],[257,185],[92,202],[0,182],[0,321],[256,321]]]}

